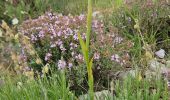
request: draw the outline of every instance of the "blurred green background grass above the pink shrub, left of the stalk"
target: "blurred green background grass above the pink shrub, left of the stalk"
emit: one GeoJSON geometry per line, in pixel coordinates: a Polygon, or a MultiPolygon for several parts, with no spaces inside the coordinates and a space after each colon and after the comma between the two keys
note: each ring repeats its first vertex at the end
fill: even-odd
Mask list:
{"type": "Polygon", "coordinates": [[[2,1],[0,5],[2,5],[1,10],[3,11],[0,16],[16,17],[20,21],[23,21],[30,17],[38,17],[51,10],[63,14],[80,14],[85,11],[86,4],[84,1],[77,2],[76,0],[19,0],[16,3],[2,1]]]}

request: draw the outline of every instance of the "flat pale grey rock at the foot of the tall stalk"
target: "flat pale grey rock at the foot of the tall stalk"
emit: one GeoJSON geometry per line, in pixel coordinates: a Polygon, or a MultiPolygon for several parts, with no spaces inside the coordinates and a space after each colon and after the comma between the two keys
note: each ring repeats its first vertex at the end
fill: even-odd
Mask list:
{"type": "MultiPolygon", "coordinates": [[[[103,90],[103,91],[100,91],[100,92],[95,92],[94,100],[108,100],[109,98],[111,98],[111,96],[112,96],[112,94],[111,94],[110,91],[103,90]]],[[[79,97],[79,100],[88,100],[88,94],[81,95],[79,97]]]]}

